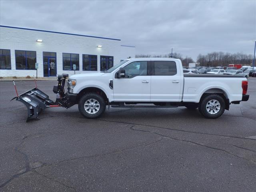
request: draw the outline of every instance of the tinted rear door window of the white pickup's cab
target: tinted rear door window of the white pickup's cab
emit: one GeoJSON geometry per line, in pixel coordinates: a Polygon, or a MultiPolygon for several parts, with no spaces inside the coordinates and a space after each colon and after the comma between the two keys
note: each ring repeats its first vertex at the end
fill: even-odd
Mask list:
{"type": "Polygon", "coordinates": [[[176,63],[174,61],[152,61],[152,75],[173,76],[177,74],[176,63]]]}

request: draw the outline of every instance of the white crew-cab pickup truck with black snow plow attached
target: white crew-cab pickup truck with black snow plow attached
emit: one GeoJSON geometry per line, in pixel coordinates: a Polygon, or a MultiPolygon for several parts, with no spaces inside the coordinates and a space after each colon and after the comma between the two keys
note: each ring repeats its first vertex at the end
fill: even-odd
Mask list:
{"type": "MultiPolygon", "coordinates": [[[[247,101],[248,82],[243,76],[183,74],[182,63],[174,58],[132,58],[112,68],[86,74],[58,76],[56,101],[34,88],[16,97],[28,108],[28,119],[38,118],[46,107],[69,108],[78,104],[86,118],[97,118],[106,106],[120,108],[198,108],[206,118],[218,118],[231,103],[247,101]]],[[[27,120],[28,120],[27,119],[27,120]]]]}

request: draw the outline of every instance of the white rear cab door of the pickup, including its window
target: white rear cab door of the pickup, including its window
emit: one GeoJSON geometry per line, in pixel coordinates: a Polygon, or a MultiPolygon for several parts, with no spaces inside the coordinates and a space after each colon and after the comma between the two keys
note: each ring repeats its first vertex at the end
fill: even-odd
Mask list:
{"type": "Polygon", "coordinates": [[[175,61],[151,61],[150,101],[180,102],[182,99],[183,76],[179,63],[175,61]]]}

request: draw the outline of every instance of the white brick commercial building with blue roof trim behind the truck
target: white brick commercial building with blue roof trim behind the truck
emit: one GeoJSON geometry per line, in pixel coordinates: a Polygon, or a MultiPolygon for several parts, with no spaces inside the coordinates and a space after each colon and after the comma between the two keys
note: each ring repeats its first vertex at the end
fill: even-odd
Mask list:
{"type": "Polygon", "coordinates": [[[0,26],[1,77],[102,71],[134,56],[120,39],[0,26]]]}

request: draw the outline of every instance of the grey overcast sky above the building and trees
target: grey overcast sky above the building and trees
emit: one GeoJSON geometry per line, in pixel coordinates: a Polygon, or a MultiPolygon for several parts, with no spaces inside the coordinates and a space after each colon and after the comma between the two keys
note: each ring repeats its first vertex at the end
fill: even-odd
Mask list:
{"type": "Polygon", "coordinates": [[[256,1],[0,1],[0,24],[118,38],[136,54],[253,54],[256,1]]]}

